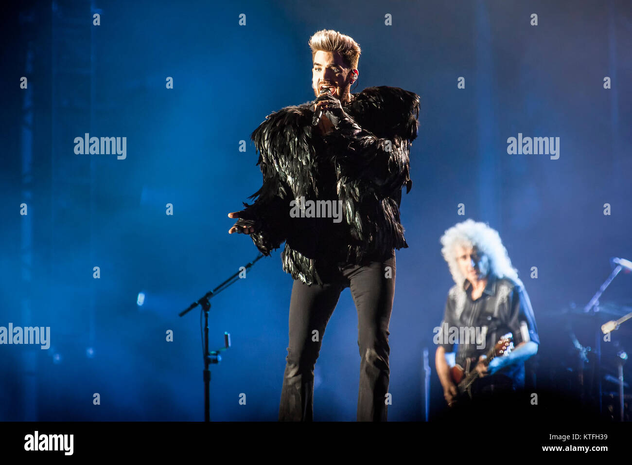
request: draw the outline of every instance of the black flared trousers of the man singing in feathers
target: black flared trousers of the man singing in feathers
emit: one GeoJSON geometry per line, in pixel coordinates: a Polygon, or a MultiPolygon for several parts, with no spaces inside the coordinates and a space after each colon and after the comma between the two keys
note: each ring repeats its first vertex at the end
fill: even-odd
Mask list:
{"type": "Polygon", "coordinates": [[[357,419],[386,421],[395,253],[363,265],[339,265],[323,282],[308,286],[295,280],[292,287],[279,421],[313,420],[313,369],[327,322],[347,287],[358,312],[361,361],[357,419]]]}

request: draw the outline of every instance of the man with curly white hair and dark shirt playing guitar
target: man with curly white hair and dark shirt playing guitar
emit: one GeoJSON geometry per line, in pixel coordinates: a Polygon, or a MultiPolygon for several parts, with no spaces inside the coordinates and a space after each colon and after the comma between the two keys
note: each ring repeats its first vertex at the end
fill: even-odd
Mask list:
{"type": "Polygon", "coordinates": [[[448,406],[458,399],[446,359],[446,353],[454,351],[455,342],[456,364],[465,375],[471,370],[479,375],[471,385],[472,400],[523,388],[525,360],[537,352],[540,340],[531,302],[501,238],[485,223],[466,220],[449,228],[441,244],[456,283],[448,292],[435,353],[437,375],[448,406]],[[461,331],[464,326],[475,328],[478,340],[454,340],[455,334],[465,334],[461,331]],[[483,354],[509,332],[514,349],[486,362],[483,354]]]}

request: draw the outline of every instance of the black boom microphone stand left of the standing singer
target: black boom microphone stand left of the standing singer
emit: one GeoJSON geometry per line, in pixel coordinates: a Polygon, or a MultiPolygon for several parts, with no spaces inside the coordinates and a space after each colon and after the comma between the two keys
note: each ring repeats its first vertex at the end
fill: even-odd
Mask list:
{"type": "MultiPolygon", "coordinates": [[[[257,258],[255,258],[250,263],[246,264],[245,266],[246,270],[250,268],[253,264],[255,264],[263,256],[264,256],[263,254],[259,254],[257,258]]],[[[204,421],[210,421],[210,369],[209,369],[209,365],[211,363],[218,364],[219,362],[221,362],[222,357],[219,355],[219,352],[222,352],[223,350],[226,350],[231,346],[231,335],[225,332],[224,333],[224,347],[222,347],[221,349],[212,350],[209,352],[210,299],[216,296],[217,294],[219,294],[220,292],[222,292],[222,290],[229,287],[229,285],[236,282],[239,279],[238,276],[240,273],[241,273],[241,270],[237,271],[236,273],[234,273],[234,275],[229,277],[226,281],[221,283],[219,286],[217,286],[213,290],[209,290],[209,292],[207,292],[202,297],[200,297],[200,299],[197,299],[197,301],[193,302],[185,310],[178,313],[178,316],[185,316],[186,313],[190,312],[198,305],[202,306],[202,311],[204,312],[204,343],[203,343],[203,348],[202,348],[203,354],[204,354],[204,371],[203,371],[203,376],[202,376],[204,378],[204,421]]]]}

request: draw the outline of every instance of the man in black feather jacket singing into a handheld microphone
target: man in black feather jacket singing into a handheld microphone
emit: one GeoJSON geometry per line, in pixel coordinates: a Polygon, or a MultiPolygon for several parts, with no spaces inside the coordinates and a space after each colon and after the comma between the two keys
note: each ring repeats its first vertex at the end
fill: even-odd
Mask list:
{"type": "Polygon", "coordinates": [[[386,421],[394,249],[408,247],[399,204],[412,185],[419,97],[386,86],[351,94],[355,40],[321,30],[309,45],[317,99],[272,113],[252,133],[263,186],[252,205],[228,214],[239,218],[229,233],[250,234],[265,255],[286,243],[281,261],[294,283],[279,420],[313,419],[313,369],[349,287],[362,357],[357,419],[386,421]]]}

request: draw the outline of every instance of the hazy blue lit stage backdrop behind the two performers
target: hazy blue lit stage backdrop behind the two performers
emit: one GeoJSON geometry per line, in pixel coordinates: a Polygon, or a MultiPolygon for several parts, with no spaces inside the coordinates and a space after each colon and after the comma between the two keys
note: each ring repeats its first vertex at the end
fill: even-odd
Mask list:
{"type": "MultiPolygon", "coordinates": [[[[0,346],[0,420],[203,418],[199,312],[177,314],[257,256],[248,237],[228,235],[226,214],[261,184],[252,130],[313,99],[307,43],[322,28],[362,47],[355,92],[392,85],[421,96],[413,189],[401,204],[410,248],[397,252],[389,420],[423,419],[424,347],[432,415],[442,408],[432,328],[453,282],[439,237],[465,218],[499,231],[525,282],[542,338],[538,383],[563,373],[568,323],[588,334],[583,344],[592,340],[582,319],[560,313],[589,301],[610,257],[632,259],[632,8],[448,3],[99,1],[98,27],[90,2],[7,8],[0,326],[51,326],[52,345],[0,346]],[[73,139],[85,132],[127,137],[127,158],[76,155],[73,139]],[[559,159],[507,154],[519,132],[559,137],[559,159]]],[[[212,367],[214,420],[277,419],[292,284],[280,252],[212,300],[211,348],[224,331],[233,341],[212,367]]],[[[631,279],[618,276],[602,302],[631,304],[631,279]]],[[[616,333],[604,358],[629,335],[616,333]]],[[[315,369],[315,420],[355,420],[359,366],[345,290],[315,369]]]]}

